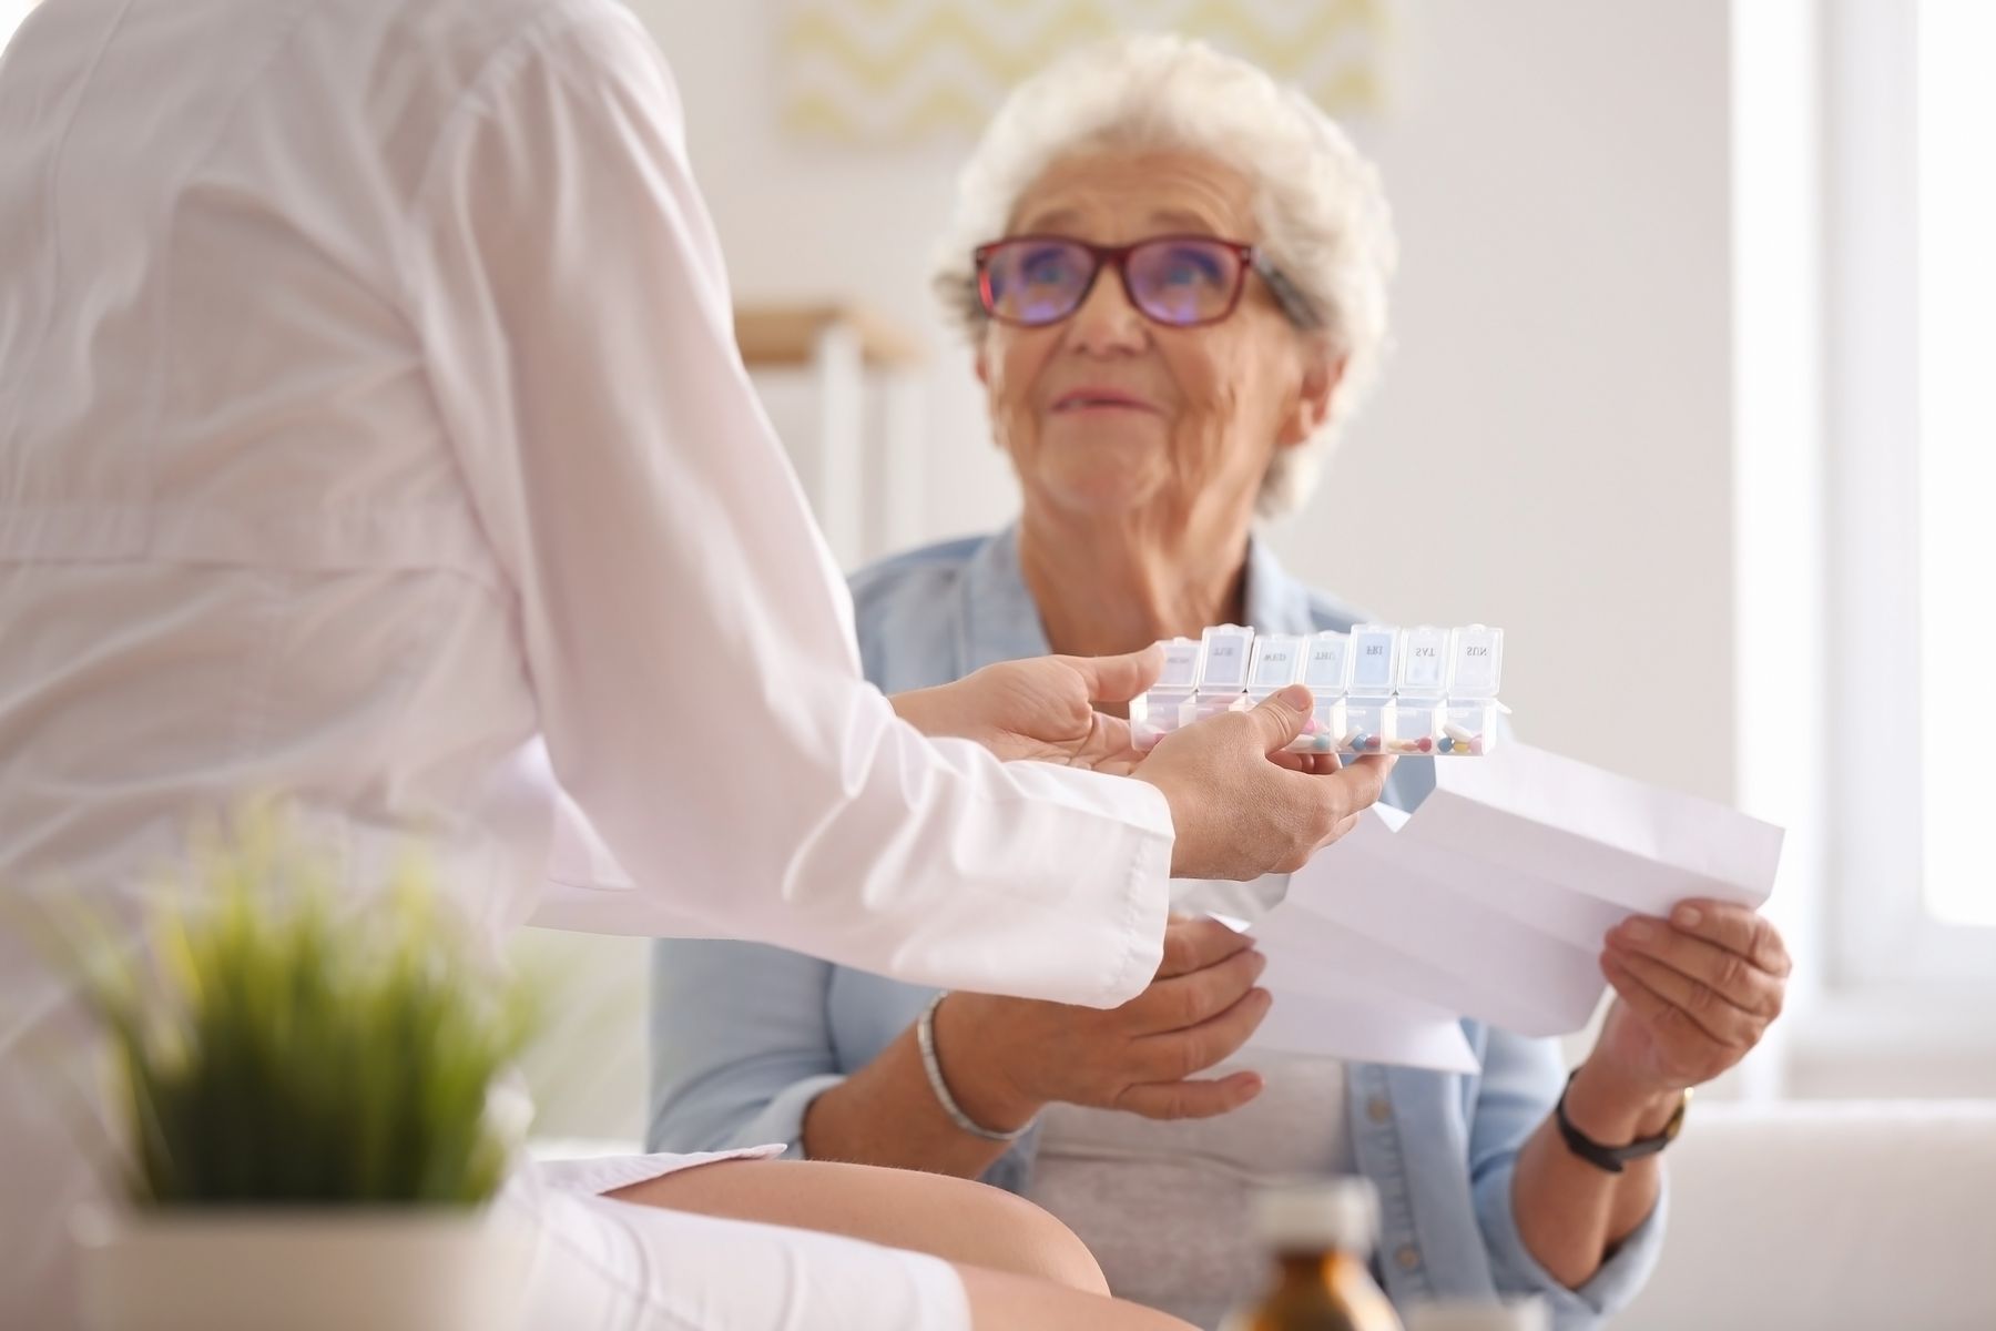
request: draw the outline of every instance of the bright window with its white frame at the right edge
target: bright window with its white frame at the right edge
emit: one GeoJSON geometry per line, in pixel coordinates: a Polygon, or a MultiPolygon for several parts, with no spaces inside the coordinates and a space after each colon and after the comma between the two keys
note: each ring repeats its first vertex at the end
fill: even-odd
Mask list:
{"type": "Polygon", "coordinates": [[[1846,988],[1988,988],[1996,780],[1974,736],[1996,653],[1996,82],[1974,54],[1996,8],[1826,16],[1834,970],[1846,988]]]}

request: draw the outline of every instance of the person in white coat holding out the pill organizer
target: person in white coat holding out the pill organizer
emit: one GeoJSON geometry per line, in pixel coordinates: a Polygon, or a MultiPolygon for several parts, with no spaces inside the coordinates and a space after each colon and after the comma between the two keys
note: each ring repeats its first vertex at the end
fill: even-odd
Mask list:
{"type": "MultiPolygon", "coordinates": [[[[1090,698],[1154,668],[864,684],[613,0],[46,0],[0,58],[16,918],[84,896],[136,940],[190,822],[275,790],[353,892],[423,828],[495,942],[699,930],[1114,1006],[1174,870],[1293,866],[1383,778],[1271,762],[1299,698],[1074,770],[1130,762],[1090,698]],[[563,810],[627,882],[549,882],[563,810]]],[[[102,1181],[40,1074],[86,1042],[0,932],[0,1325],[72,1315],[102,1181]]],[[[707,1159],[521,1171],[533,1325],[1162,1325],[972,1183],[707,1159]]]]}

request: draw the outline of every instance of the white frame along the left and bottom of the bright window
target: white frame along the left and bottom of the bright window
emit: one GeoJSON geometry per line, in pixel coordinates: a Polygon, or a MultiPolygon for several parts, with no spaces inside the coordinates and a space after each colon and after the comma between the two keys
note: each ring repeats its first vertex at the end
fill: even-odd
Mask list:
{"type": "Polygon", "coordinates": [[[1902,651],[1920,641],[1916,16],[1838,0],[1824,34],[1832,976],[1984,990],[1996,1008],[1996,928],[1926,908],[1918,666],[1902,651]],[[1860,718],[1880,714],[1890,738],[1872,744],[1860,718]]]}

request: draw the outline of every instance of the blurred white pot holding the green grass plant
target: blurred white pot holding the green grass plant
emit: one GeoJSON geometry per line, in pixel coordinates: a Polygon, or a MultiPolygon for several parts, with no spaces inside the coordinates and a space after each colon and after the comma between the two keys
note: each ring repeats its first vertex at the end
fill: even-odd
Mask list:
{"type": "Polygon", "coordinates": [[[513,1331],[533,1249],[489,1211],[90,1207],[82,1331],[513,1331]]]}

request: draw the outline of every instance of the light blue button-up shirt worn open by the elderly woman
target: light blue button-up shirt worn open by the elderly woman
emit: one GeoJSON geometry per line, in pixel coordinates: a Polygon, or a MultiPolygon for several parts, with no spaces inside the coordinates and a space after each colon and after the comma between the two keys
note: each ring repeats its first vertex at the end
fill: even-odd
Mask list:
{"type": "MultiPolygon", "coordinates": [[[[960,678],[994,661],[1046,655],[1018,567],[1014,531],[930,545],[852,579],[866,676],[886,692],[960,678]]],[[[1345,631],[1359,617],[1249,545],[1246,605],[1263,633],[1345,631]]],[[[1403,760],[1387,802],[1413,808],[1433,764],[1403,760]]],[[[653,958],[653,1149],[705,1151],[788,1141],[804,1109],[872,1062],[930,1000],[924,990],[796,952],[743,942],[663,940],[653,958]]],[[[1649,1277],[1663,1201],[1581,1289],[1525,1249],[1511,1173],[1525,1137],[1559,1098],[1559,1046],[1463,1022],[1479,1076],[1351,1064],[1357,1165],[1381,1199],[1379,1273],[1395,1303],[1539,1295],[1559,1331],[1595,1327],[1649,1277]]],[[[1024,1191],[1028,1133],[984,1175],[1024,1191]]]]}

